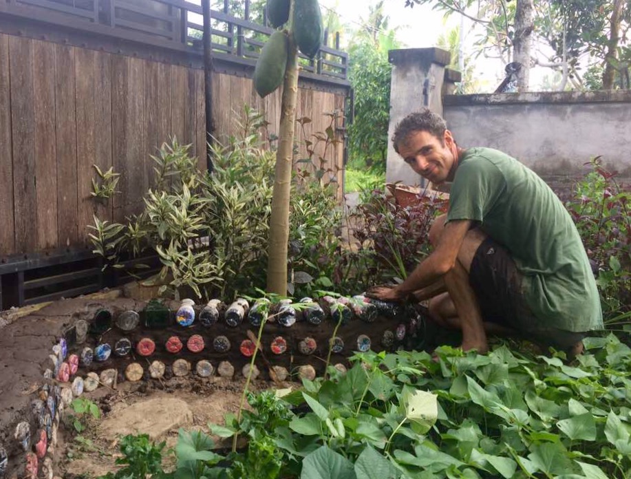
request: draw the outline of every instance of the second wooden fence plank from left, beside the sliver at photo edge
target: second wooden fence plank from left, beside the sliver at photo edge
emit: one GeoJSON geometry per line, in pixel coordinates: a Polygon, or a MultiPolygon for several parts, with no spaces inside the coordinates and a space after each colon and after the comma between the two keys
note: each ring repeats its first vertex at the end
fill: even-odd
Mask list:
{"type": "Polygon", "coordinates": [[[9,39],[15,246],[19,253],[37,244],[33,41],[9,39]]]}

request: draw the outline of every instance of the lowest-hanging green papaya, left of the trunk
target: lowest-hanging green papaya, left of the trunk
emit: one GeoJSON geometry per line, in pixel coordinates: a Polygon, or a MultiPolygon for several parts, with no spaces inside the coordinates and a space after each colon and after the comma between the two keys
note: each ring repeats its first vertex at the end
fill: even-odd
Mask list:
{"type": "Polygon", "coordinates": [[[263,45],[254,68],[254,88],[264,98],[277,89],[285,76],[289,41],[284,32],[274,32],[263,45]]]}

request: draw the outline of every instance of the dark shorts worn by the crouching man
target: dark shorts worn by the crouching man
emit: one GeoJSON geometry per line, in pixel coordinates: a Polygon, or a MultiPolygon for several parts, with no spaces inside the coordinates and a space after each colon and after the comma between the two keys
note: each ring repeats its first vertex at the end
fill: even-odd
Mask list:
{"type": "Polygon", "coordinates": [[[484,321],[512,328],[523,337],[561,350],[585,337],[583,332],[539,323],[524,300],[522,276],[513,258],[491,237],[486,237],[473,256],[469,283],[478,298],[484,321]]]}

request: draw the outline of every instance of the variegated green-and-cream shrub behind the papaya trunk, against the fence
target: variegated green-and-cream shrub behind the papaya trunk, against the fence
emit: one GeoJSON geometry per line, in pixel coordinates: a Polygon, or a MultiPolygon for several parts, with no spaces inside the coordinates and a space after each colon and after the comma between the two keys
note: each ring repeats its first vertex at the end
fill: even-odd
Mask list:
{"type": "MultiPolygon", "coordinates": [[[[265,125],[257,111],[246,107],[239,136],[213,146],[212,174],[197,169],[189,145],[175,140],[162,145],[152,156],[156,179],[145,195],[144,211],[126,224],[95,217],[90,226],[94,252],[118,267],[123,251],[156,251],[162,271],[145,284],[161,284],[161,292],[208,299],[264,289],[275,165],[275,152],[261,140],[265,125]]],[[[318,141],[311,141],[312,174],[304,170],[292,184],[289,260],[292,291],[300,294],[332,274],[341,218],[336,183],[326,181],[322,167],[332,141],[328,133],[316,135],[324,142],[322,156],[318,141]]]]}

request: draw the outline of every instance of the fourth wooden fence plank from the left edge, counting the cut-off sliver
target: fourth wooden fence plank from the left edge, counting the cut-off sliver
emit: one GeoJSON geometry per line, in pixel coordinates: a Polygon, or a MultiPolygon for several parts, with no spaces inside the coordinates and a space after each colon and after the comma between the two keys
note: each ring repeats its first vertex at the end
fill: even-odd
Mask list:
{"type": "Polygon", "coordinates": [[[57,231],[59,246],[78,242],[74,47],[55,45],[57,231]]]}

